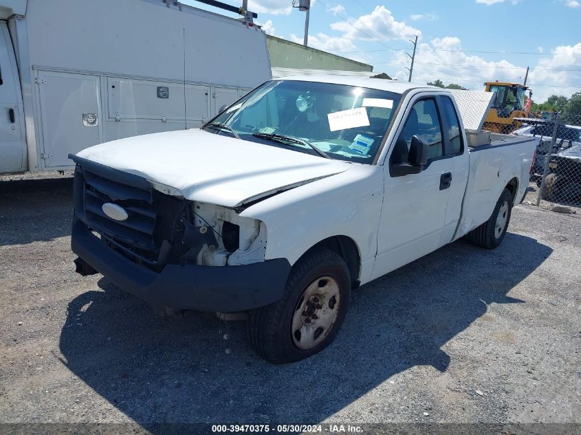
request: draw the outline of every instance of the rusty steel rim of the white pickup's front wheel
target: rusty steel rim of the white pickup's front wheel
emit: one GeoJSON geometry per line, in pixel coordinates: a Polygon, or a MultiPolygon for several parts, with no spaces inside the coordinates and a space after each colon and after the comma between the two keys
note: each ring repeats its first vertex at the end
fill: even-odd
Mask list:
{"type": "Polygon", "coordinates": [[[334,278],[317,278],[303,291],[292,319],[292,339],[296,347],[310,350],[329,335],[340,307],[339,285],[334,278]]]}

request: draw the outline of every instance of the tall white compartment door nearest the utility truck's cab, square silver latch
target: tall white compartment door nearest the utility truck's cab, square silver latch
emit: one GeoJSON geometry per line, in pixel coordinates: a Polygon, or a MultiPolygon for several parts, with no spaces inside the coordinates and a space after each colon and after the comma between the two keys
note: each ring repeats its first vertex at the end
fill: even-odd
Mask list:
{"type": "Polygon", "coordinates": [[[39,71],[45,168],[73,164],[67,157],[102,142],[100,79],[88,74],[39,71]]]}

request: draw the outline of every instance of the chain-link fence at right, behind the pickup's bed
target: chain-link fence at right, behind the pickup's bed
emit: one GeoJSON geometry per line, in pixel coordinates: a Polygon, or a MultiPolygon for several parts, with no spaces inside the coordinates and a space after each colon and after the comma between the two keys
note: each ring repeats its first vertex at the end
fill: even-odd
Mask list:
{"type": "Polygon", "coordinates": [[[537,112],[486,122],[484,129],[538,137],[540,143],[531,165],[527,202],[553,207],[581,208],[581,113],[537,112]]]}

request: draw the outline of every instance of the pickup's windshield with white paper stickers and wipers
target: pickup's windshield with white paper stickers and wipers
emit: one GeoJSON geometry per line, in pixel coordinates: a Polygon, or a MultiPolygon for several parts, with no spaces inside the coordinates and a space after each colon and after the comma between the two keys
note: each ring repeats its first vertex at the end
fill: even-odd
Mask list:
{"type": "Polygon", "coordinates": [[[371,164],[400,98],[377,89],[276,80],[255,89],[203,128],[268,146],[371,164]]]}

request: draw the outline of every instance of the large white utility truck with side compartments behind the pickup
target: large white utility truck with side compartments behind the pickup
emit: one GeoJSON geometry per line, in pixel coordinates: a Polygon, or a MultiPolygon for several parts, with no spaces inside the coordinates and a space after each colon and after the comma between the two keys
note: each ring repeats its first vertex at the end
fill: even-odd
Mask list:
{"type": "Polygon", "coordinates": [[[250,13],[0,0],[0,173],[71,169],[67,155],[88,146],[199,127],[268,79],[250,13]]]}

